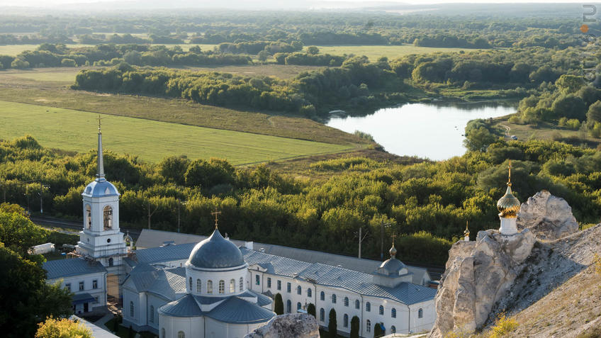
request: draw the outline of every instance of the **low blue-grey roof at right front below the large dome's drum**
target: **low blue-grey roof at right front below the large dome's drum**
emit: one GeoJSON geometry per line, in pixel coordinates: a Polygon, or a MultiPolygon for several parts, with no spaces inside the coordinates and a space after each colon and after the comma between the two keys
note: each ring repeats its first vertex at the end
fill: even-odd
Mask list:
{"type": "Polygon", "coordinates": [[[213,310],[206,314],[220,322],[230,322],[236,324],[254,324],[267,322],[276,314],[262,308],[257,304],[249,303],[246,300],[230,297],[213,310]]]}

